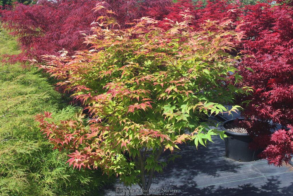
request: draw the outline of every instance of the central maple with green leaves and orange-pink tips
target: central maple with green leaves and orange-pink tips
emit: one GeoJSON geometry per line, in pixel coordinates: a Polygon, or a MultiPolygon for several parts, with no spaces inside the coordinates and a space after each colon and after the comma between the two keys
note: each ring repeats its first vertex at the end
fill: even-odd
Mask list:
{"type": "Polygon", "coordinates": [[[147,190],[154,172],[167,164],[160,159],[163,151],[186,141],[205,145],[211,135],[224,137],[200,118],[227,111],[224,104],[233,103],[235,92],[246,92],[229,74],[241,79],[240,57],[227,53],[242,36],[224,30],[230,21],[207,21],[194,31],[189,13],[180,14],[182,22],[167,21],[167,30],[148,17],[125,28],[101,16],[85,38],[91,50],[45,56],[48,64],[41,67],[62,79],[59,85],[73,90],[91,116],[78,114],[60,123],[47,120],[50,112],[35,116],[55,148],[71,150],[70,165],[101,167],[125,185],[147,190]]]}

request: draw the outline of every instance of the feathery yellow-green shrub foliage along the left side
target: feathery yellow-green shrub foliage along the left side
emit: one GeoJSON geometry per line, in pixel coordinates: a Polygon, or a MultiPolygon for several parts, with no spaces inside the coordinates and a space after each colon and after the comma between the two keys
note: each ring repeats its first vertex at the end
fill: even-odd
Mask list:
{"type": "MultiPolygon", "coordinates": [[[[0,52],[18,52],[4,31],[0,52]]],[[[60,97],[36,68],[0,67],[0,195],[98,195],[100,187],[113,181],[99,170],[72,170],[65,164],[68,153],[52,150],[43,138],[33,114],[52,110],[56,119],[66,119],[80,110],[63,108],[60,97]]]]}

